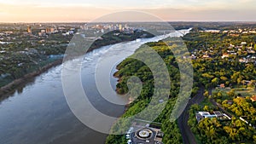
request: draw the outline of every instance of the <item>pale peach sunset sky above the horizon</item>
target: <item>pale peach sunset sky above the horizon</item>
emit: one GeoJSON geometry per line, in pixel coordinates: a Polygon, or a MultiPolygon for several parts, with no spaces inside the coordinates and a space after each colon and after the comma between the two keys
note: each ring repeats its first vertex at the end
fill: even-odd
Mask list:
{"type": "MultiPolygon", "coordinates": [[[[0,0],[0,22],[89,22],[123,10],[168,21],[256,21],[256,0],[0,0]]],[[[138,20],[128,17],[119,20],[138,20]]]]}

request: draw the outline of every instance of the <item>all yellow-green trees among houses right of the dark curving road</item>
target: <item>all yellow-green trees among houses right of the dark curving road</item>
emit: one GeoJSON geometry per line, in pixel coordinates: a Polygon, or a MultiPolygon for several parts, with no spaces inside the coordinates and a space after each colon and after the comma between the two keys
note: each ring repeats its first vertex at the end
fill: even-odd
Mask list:
{"type": "MultiPolygon", "coordinates": [[[[253,81],[256,78],[256,69],[253,61],[241,63],[239,59],[248,56],[246,47],[241,50],[232,48],[237,51],[237,55],[222,58],[221,55],[230,50],[230,43],[236,46],[242,41],[255,43],[255,36],[231,37],[224,33],[210,32],[190,32],[184,37],[188,49],[191,54],[197,58],[193,60],[195,70],[195,81],[205,88],[212,89],[219,84],[224,84],[226,87],[250,87],[255,88],[253,81]],[[210,58],[202,58],[202,55],[210,55],[210,58]],[[250,84],[245,84],[245,81],[250,81],[250,84]]],[[[256,44],[255,44],[256,45],[256,44]]],[[[205,95],[208,95],[205,93],[205,95]]],[[[207,111],[212,112],[214,108],[205,105],[193,105],[189,110],[189,126],[191,130],[198,135],[201,143],[232,143],[243,141],[255,141],[256,130],[253,127],[242,122],[239,117],[246,116],[246,119],[255,124],[255,105],[249,97],[236,97],[235,89],[231,89],[228,93],[218,91],[212,95],[213,99],[224,106],[229,112],[234,113],[237,118],[231,121],[222,121],[216,118],[204,118],[198,124],[195,119],[195,112],[207,111]],[[233,100],[233,104],[229,104],[226,98],[233,100]]],[[[216,109],[215,109],[216,110],[216,109]]]]}

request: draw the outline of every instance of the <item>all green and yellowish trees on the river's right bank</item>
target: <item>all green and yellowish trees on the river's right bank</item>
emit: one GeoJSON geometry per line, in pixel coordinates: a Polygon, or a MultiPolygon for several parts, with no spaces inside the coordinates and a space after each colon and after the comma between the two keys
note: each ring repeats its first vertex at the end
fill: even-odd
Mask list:
{"type": "MultiPolygon", "coordinates": [[[[251,87],[255,89],[255,77],[256,69],[254,64],[251,61],[247,63],[240,62],[240,59],[243,59],[248,56],[248,53],[245,51],[247,48],[243,46],[241,50],[236,49],[236,55],[230,55],[229,57],[222,58],[221,56],[226,53],[228,50],[232,50],[230,44],[240,45],[241,41],[247,43],[255,43],[256,37],[254,35],[232,37],[227,33],[210,33],[210,32],[199,32],[199,29],[190,32],[188,35],[183,37],[189,52],[191,55],[195,55],[193,60],[194,67],[194,87],[192,90],[192,95],[195,95],[199,87],[204,87],[206,89],[212,89],[220,84],[224,84],[226,87],[251,87]],[[209,55],[209,58],[203,58],[203,55],[209,55]],[[246,81],[252,83],[246,84],[246,81]]],[[[256,44],[254,44],[256,45],[256,44]]],[[[170,72],[172,81],[176,82],[179,78],[177,62],[172,55],[171,51],[166,49],[165,44],[162,42],[159,43],[148,43],[148,46],[154,47],[158,53],[168,64],[168,70],[170,72]]],[[[176,45],[177,46],[177,45],[176,45]]],[[[233,49],[234,50],[234,49],[233,49]]],[[[139,95],[138,101],[144,101],[147,103],[150,101],[150,97],[153,94],[152,84],[152,75],[147,66],[144,66],[142,62],[132,59],[124,60],[119,66],[119,72],[116,73],[119,76],[118,92],[124,94],[128,91],[126,86],[126,81],[129,76],[137,76],[143,81],[143,92],[139,95]],[[147,101],[145,101],[147,100],[147,101]]],[[[170,123],[167,118],[170,115],[170,110],[173,107],[173,101],[175,101],[175,95],[178,93],[179,83],[172,83],[171,95],[166,109],[160,114],[160,117],[156,119],[157,122],[163,124],[163,130],[168,133],[164,142],[166,143],[178,143],[180,141],[180,136],[178,134],[177,124],[170,123]],[[172,131],[173,132],[172,132],[172,131]],[[170,132],[169,132],[170,131],[170,132]],[[172,138],[172,140],[168,140],[172,138]],[[177,141],[174,141],[177,140],[177,141]]],[[[210,95],[207,92],[205,93],[206,97],[210,95]]],[[[234,90],[231,90],[229,94],[223,94],[218,92],[216,95],[211,97],[217,99],[218,103],[222,103],[222,98],[224,96],[229,96],[230,99],[236,98],[236,93],[234,90]]],[[[137,112],[138,107],[134,101],[131,104],[131,110],[128,110],[129,113],[137,112]],[[132,107],[136,108],[132,108],[132,107]]],[[[249,99],[239,99],[234,100],[233,105],[227,104],[227,101],[223,103],[224,107],[227,108],[230,112],[234,112],[237,116],[246,115],[252,123],[255,120],[255,104],[250,103],[249,99]]],[[[146,105],[142,105],[146,107],[146,105]]],[[[189,110],[189,125],[191,130],[195,132],[196,135],[199,135],[199,141],[201,143],[231,143],[231,142],[242,142],[242,141],[256,141],[255,130],[247,124],[241,122],[239,118],[234,118],[232,121],[219,121],[217,118],[205,118],[201,120],[198,124],[195,119],[196,111],[209,111],[218,110],[217,107],[205,105],[203,107],[199,105],[193,105],[189,110]]],[[[107,142],[108,143],[108,142],[107,142]]]]}

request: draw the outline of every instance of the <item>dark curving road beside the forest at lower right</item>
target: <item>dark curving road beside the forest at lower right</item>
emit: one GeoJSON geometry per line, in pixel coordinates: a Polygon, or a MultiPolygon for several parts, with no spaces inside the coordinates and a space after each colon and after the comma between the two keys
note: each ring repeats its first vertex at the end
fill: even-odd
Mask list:
{"type": "Polygon", "coordinates": [[[198,94],[189,100],[189,103],[181,116],[177,119],[177,124],[179,129],[181,130],[181,134],[183,136],[183,143],[184,144],[196,144],[195,135],[189,128],[188,120],[189,120],[189,107],[193,104],[199,104],[201,101],[204,100],[204,89],[201,88],[198,91],[198,94]]]}

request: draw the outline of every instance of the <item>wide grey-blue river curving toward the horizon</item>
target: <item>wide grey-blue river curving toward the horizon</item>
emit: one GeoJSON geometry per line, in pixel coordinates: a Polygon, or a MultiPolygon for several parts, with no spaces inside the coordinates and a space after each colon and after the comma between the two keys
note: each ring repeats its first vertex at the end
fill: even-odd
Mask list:
{"type": "MultiPolygon", "coordinates": [[[[177,36],[177,33],[173,36],[177,36]]],[[[108,52],[105,56],[116,60],[116,66],[132,55],[141,44],[162,38],[163,36],[117,43],[84,55],[82,84],[97,109],[115,117],[121,116],[125,111],[124,106],[111,104],[101,98],[96,90],[95,66],[101,56],[108,52]]],[[[109,66],[113,66],[113,63],[109,63],[109,66]]],[[[61,84],[61,68],[62,65],[52,67],[17,88],[14,94],[5,95],[7,98],[0,102],[0,144],[104,143],[107,135],[86,127],[67,106],[61,84]]],[[[116,72],[114,68],[110,72],[111,76],[113,72],[116,72]]],[[[110,78],[114,89],[117,79],[110,78]]],[[[111,96],[117,101],[127,102],[122,96],[111,96]]]]}

